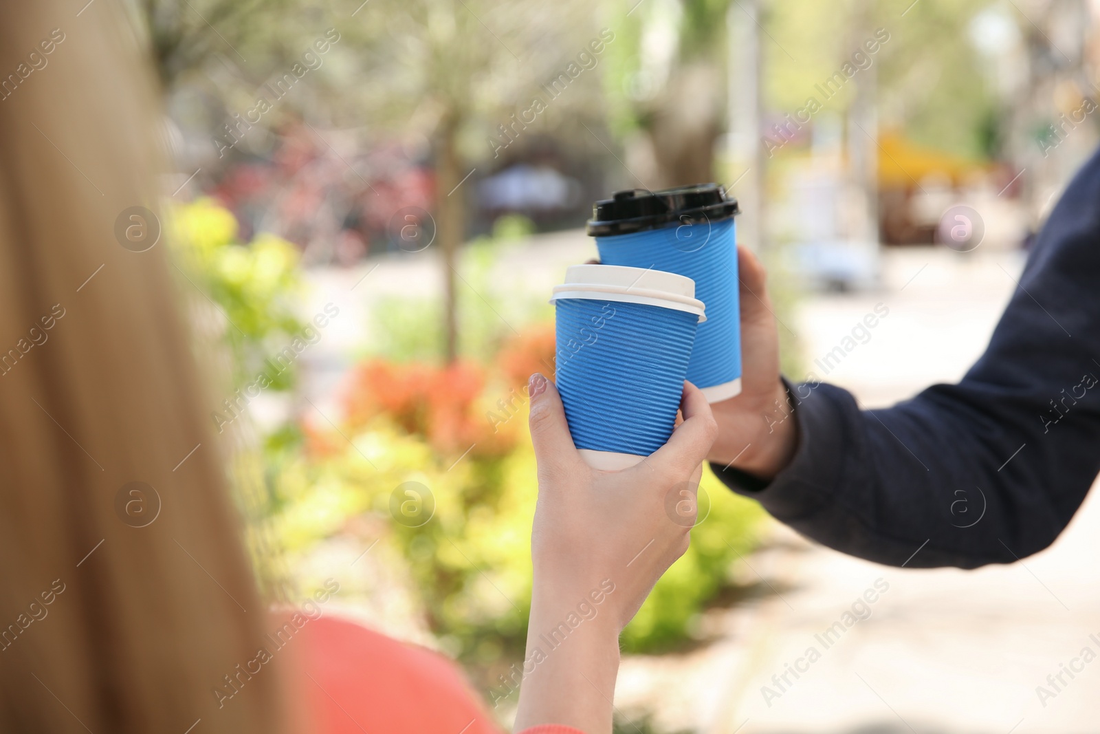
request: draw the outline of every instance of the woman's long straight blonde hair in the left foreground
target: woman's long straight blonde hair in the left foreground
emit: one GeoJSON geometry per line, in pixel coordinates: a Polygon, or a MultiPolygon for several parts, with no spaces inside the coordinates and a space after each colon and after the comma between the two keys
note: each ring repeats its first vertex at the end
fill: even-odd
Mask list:
{"type": "Polygon", "coordinates": [[[274,672],[213,692],[266,612],[165,244],[116,235],[157,209],[151,63],[79,4],[0,8],[0,731],[279,732],[274,672]]]}

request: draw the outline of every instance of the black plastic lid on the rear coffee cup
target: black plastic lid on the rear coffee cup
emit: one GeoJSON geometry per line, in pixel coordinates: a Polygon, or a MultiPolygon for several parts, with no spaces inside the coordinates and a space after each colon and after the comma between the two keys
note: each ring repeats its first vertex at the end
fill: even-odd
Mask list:
{"type": "Polygon", "coordinates": [[[630,189],[615,191],[610,199],[592,205],[590,237],[628,234],[657,229],[671,222],[697,224],[728,219],[740,213],[737,199],[726,195],[718,184],[678,186],[659,191],[630,189]]]}

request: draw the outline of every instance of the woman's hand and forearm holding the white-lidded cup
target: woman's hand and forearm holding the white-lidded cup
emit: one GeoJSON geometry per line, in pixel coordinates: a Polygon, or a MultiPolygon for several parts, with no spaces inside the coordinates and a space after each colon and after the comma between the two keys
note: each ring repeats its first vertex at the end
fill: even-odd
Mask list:
{"type": "Polygon", "coordinates": [[[553,384],[531,375],[529,393],[539,499],[516,728],[610,732],[618,635],[688,549],[717,426],[703,394],[684,383],[684,420],[668,443],[630,469],[598,471],[574,447],[553,384]]]}

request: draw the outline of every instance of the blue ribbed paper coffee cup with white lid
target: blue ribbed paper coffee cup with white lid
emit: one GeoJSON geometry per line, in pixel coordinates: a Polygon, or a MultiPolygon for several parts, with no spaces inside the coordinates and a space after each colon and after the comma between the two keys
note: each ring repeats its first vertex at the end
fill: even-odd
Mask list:
{"type": "Polygon", "coordinates": [[[556,383],[584,460],[634,465],[672,435],[703,302],[674,273],[573,265],[553,288],[556,383]]]}

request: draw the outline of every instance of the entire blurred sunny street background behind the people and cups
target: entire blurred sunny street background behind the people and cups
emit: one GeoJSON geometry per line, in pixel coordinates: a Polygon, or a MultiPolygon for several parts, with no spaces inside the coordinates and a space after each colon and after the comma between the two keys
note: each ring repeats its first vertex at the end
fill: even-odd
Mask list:
{"type": "MultiPolygon", "coordinates": [[[[537,491],[524,385],[552,372],[547,299],[595,255],[594,199],[725,184],[784,372],[877,407],[983,351],[1100,140],[1094,0],[130,7],[265,593],[336,578],[339,614],[455,658],[506,725],[537,491]]],[[[1096,730],[1091,668],[1036,694],[1100,645],[1094,502],[1024,565],[912,571],[703,487],[691,550],[624,635],[620,731],[1096,730]],[[780,689],[868,589],[870,616],[780,689]]]]}

